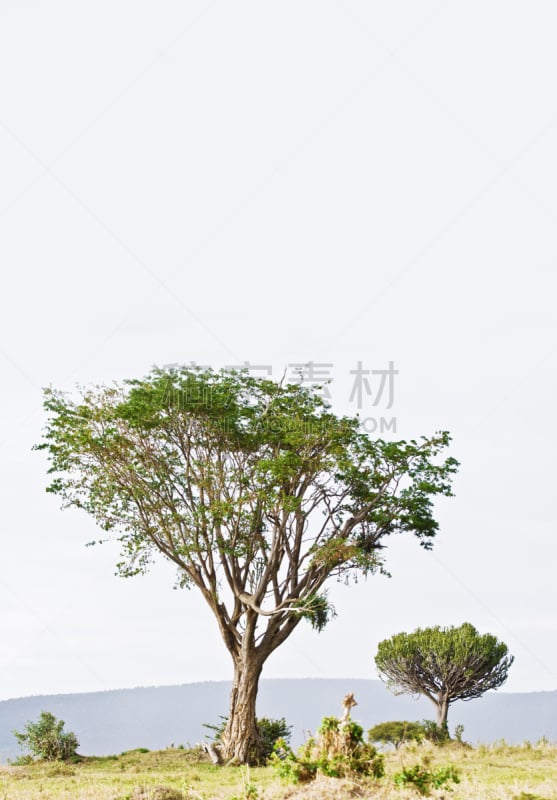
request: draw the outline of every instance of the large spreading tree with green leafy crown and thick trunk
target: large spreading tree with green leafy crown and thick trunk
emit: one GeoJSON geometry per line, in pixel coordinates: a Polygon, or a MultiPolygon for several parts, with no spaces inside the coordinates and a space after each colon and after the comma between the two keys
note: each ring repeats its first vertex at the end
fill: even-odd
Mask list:
{"type": "Polygon", "coordinates": [[[121,542],[123,576],[155,554],[213,612],[234,664],[224,757],[254,761],[263,665],[301,620],[332,614],[332,577],[383,569],[385,540],[429,548],[432,499],[457,468],[447,433],[372,440],[315,390],[245,372],[153,370],[142,380],[48,389],[38,449],[64,506],[121,542]]]}

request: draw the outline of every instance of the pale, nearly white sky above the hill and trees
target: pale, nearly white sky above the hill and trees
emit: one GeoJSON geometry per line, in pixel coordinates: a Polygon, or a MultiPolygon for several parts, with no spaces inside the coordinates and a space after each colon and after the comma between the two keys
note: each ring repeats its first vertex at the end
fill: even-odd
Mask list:
{"type": "Polygon", "coordinates": [[[556,26],[549,0],[0,0],[0,699],[231,677],[195,592],[115,577],[31,451],[42,387],[192,361],[332,365],[339,413],[392,362],[362,417],[461,461],[434,552],[333,583],[264,677],[374,678],[381,639],[470,621],[505,691],[557,689],[556,26]]]}

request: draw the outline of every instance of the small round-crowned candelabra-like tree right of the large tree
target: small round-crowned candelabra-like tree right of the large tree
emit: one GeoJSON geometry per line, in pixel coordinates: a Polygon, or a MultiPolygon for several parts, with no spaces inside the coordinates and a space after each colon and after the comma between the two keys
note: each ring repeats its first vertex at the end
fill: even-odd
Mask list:
{"type": "Polygon", "coordinates": [[[469,622],[459,628],[418,628],[379,643],[375,664],[395,694],[423,694],[445,729],[449,705],[472,700],[507,679],[513,663],[507,645],[469,622]]]}

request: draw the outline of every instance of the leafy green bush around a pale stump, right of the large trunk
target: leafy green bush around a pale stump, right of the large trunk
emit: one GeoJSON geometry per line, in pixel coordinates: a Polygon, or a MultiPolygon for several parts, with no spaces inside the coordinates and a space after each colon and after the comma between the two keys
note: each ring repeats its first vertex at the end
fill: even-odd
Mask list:
{"type": "Polygon", "coordinates": [[[279,740],[271,760],[281,777],[295,783],[313,780],[318,772],[333,778],[380,778],[384,773],[383,756],[366,744],[363,736],[364,730],[357,722],[325,717],[317,738],[309,739],[297,755],[279,740]]]}

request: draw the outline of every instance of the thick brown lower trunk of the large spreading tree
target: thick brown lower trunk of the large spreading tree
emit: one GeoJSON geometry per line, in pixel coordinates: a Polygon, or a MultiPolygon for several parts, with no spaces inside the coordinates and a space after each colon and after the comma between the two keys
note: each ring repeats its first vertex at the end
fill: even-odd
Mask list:
{"type": "Polygon", "coordinates": [[[222,737],[225,763],[257,764],[259,760],[261,748],[255,703],[263,661],[253,649],[242,652],[234,660],[230,712],[222,737]]]}

